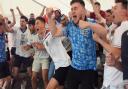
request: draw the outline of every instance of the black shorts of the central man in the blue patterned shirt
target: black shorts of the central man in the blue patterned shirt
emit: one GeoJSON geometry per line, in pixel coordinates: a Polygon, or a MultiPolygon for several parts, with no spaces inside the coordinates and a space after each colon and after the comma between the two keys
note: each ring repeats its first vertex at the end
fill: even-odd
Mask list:
{"type": "Polygon", "coordinates": [[[77,70],[69,68],[64,89],[95,89],[97,72],[94,70],[77,70]]]}

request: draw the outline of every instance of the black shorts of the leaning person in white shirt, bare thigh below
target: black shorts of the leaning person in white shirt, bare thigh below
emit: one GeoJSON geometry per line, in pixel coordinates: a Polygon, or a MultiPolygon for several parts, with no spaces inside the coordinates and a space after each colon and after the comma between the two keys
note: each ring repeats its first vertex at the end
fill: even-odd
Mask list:
{"type": "Polygon", "coordinates": [[[67,74],[68,74],[69,67],[60,67],[59,69],[55,70],[55,74],[53,78],[55,78],[59,85],[64,85],[67,74]]]}

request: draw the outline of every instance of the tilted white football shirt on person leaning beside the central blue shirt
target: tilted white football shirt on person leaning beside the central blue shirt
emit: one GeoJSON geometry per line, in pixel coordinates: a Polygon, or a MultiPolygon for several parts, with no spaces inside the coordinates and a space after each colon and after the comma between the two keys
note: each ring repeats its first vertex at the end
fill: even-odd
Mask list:
{"type": "Polygon", "coordinates": [[[70,57],[62,45],[60,37],[54,38],[52,37],[51,32],[49,32],[45,36],[43,43],[55,64],[55,69],[58,69],[59,67],[67,67],[71,64],[70,57]]]}

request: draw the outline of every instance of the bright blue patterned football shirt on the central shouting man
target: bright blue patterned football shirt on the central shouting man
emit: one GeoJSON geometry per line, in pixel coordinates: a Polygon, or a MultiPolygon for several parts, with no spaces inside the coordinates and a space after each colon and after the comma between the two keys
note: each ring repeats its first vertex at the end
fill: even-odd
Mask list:
{"type": "Polygon", "coordinates": [[[81,30],[70,21],[64,30],[64,35],[69,37],[72,44],[71,66],[77,70],[96,70],[96,44],[92,37],[93,31],[90,28],[81,30]]]}

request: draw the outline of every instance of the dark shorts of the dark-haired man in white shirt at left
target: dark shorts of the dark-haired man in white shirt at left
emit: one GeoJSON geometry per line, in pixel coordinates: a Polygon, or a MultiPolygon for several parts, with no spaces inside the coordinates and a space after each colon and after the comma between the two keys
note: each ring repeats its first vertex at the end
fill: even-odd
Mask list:
{"type": "Polygon", "coordinates": [[[15,55],[15,60],[14,60],[13,66],[20,68],[21,65],[23,65],[24,68],[31,67],[32,66],[31,57],[25,58],[25,57],[21,57],[19,55],[15,55]]]}

